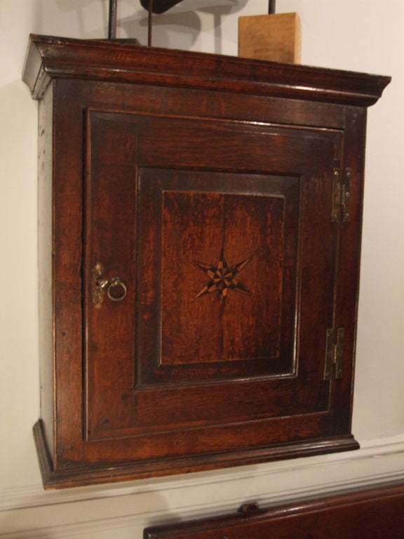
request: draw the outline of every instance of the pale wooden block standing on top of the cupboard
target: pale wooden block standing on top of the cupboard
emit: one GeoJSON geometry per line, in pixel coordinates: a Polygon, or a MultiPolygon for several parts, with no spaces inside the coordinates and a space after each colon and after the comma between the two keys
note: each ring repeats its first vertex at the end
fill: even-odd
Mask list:
{"type": "Polygon", "coordinates": [[[301,25],[297,13],[238,18],[238,56],[299,63],[301,25]]]}

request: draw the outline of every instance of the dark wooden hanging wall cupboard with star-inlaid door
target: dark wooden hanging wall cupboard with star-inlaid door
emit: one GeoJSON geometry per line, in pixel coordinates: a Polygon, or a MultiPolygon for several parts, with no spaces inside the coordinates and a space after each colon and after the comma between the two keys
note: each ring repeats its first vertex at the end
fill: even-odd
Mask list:
{"type": "Polygon", "coordinates": [[[48,488],[358,447],[366,108],[388,77],[31,36],[48,488]]]}

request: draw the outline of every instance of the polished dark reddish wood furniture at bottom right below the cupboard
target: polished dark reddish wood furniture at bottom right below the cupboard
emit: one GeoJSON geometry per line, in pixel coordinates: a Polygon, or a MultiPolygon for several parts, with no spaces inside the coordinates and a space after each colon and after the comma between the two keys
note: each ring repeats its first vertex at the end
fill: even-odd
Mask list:
{"type": "Polygon", "coordinates": [[[404,484],[144,530],[144,539],[402,539],[404,484]]]}

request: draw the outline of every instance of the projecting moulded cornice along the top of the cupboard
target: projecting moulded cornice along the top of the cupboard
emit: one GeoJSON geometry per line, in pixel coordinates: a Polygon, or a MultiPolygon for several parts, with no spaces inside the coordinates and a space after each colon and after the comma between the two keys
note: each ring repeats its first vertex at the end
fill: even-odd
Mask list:
{"type": "Polygon", "coordinates": [[[31,35],[23,80],[40,99],[52,79],[200,88],[367,107],[389,76],[151,48],[116,41],[31,35]]]}

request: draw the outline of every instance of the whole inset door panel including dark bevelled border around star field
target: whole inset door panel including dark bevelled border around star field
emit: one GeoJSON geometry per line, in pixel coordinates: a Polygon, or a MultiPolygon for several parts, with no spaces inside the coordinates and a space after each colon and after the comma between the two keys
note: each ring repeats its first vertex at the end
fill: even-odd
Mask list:
{"type": "Polygon", "coordinates": [[[156,260],[140,262],[139,282],[159,298],[140,307],[140,385],[292,374],[299,178],[139,178],[138,252],[156,260]]]}

